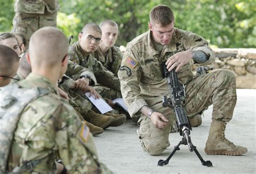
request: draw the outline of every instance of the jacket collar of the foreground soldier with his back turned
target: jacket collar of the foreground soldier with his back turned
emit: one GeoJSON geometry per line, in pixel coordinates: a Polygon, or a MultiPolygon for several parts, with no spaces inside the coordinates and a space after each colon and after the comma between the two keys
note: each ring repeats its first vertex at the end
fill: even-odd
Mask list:
{"type": "Polygon", "coordinates": [[[40,86],[42,88],[48,88],[50,89],[52,92],[54,93],[58,93],[57,92],[57,87],[56,84],[53,84],[49,78],[39,75],[39,74],[35,74],[35,73],[30,73],[28,75],[28,77],[26,77],[25,79],[26,81],[33,81],[33,82],[38,82],[37,84],[40,84],[40,86]]]}

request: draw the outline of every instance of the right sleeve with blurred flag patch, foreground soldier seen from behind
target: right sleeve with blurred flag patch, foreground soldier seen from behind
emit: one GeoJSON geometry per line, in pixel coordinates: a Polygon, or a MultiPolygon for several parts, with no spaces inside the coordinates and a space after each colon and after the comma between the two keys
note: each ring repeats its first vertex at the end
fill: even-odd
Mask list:
{"type": "Polygon", "coordinates": [[[70,173],[94,173],[101,170],[93,136],[75,110],[64,104],[55,113],[58,154],[70,173]]]}

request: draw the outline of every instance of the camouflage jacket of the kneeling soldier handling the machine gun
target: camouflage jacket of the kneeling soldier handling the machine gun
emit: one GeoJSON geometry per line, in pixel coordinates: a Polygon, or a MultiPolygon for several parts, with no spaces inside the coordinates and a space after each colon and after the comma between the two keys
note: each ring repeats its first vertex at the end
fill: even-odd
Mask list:
{"type": "MultiPolygon", "coordinates": [[[[161,53],[154,49],[151,33],[139,35],[127,44],[124,59],[118,71],[121,91],[130,115],[137,113],[144,105],[152,106],[161,102],[163,95],[168,95],[166,78],[161,74],[160,63],[168,57],[185,50],[202,50],[214,61],[215,55],[204,38],[188,31],[174,28],[172,40],[164,46],[161,53]]],[[[189,63],[178,72],[182,84],[190,82],[194,75],[189,63]]]]}

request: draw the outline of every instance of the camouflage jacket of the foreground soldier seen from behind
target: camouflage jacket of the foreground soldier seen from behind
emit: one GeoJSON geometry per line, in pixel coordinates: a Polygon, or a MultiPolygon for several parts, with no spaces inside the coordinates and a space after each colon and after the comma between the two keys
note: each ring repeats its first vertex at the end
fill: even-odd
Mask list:
{"type": "Polygon", "coordinates": [[[81,122],[73,108],[57,95],[49,79],[30,74],[19,85],[24,88],[41,86],[52,93],[24,108],[9,155],[9,171],[41,159],[30,172],[55,173],[55,160],[62,159],[70,173],[111,173],[98,162],[93,137],[85,122],[81,122]]]}

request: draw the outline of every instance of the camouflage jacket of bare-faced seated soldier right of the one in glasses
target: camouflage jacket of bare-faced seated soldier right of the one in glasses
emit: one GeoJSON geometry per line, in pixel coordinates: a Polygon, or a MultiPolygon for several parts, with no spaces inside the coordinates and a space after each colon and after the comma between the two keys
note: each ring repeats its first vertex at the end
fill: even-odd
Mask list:
{"type": "Polygon", "coordinates": [[[98,48],[96,52],[93,53],[93,56],[100,61],[107,70],[110,70],[115,76],[117,76],[123,59],[123,53],[120,51],[119,47],[111,47],[107,50],[105,55],[103,55],[98,48]]]}

